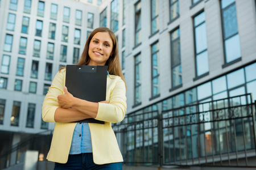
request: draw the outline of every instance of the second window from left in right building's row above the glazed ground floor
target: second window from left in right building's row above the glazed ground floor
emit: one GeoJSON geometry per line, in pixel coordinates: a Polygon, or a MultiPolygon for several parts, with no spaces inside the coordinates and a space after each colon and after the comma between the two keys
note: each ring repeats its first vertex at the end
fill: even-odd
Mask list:
{"type": "Polygon", "coordinates": [[[158,42],[151,46],[151,95],[159,95],[158,42]]]}

